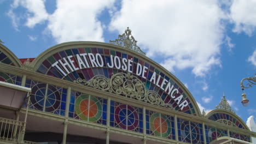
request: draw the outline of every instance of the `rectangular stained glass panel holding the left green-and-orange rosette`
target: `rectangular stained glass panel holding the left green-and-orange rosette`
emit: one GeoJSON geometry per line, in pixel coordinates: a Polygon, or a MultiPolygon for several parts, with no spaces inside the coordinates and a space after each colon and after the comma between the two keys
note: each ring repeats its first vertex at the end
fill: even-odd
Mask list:
{"type": "Polygon", "coordinates": [[[69,117],[106,125],[107,100],[89,94],[71,92],[69,117]]]}

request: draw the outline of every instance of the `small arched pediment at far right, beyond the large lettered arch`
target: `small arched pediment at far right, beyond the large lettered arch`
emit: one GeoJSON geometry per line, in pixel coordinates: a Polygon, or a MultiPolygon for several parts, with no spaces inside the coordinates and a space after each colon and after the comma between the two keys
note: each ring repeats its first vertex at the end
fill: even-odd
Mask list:
{"type": "Polygon", "coordinates": [[[228,110],[223,110],[223,109],[211,110],[206,113],[205,117],[208,119],[211,119],[212,121],[218,121],[220,123],[225,122],[228,125],[249,130],[246,123],[243,122],[243,120],[240,117],[238,117],[235,113],[232,113],[228,110]]]}

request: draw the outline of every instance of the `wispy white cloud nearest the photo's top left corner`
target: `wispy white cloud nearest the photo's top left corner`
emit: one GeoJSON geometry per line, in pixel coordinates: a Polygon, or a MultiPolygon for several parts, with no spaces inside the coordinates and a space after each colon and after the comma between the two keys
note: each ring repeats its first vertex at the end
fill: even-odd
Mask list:
{"type": "Polygon", "coordinates": [[[27,22],[25,25],[30,28],[47,20],[48,13],[45,10],[44,2],[44,0],[15,0],[7,13],[11,18],[14,28],[18,30],[20,19],[26,19],[27,22]],[[18,16],[14,13],[14,9],[20,6],[27,9],[26,14],[22,16],[18,16]]]}

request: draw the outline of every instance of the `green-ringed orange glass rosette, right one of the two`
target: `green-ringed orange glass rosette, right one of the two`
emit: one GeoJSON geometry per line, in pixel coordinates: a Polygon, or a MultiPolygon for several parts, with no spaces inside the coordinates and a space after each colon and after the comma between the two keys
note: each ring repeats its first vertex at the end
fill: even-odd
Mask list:
{"type": "Polygon", "coordinates": [[[167,137],[171,134],[171,123],[169,119],[164,115],[159,115],[159,113],[154,113],[150,117],[150,129],[156,136],[167,137]]]}

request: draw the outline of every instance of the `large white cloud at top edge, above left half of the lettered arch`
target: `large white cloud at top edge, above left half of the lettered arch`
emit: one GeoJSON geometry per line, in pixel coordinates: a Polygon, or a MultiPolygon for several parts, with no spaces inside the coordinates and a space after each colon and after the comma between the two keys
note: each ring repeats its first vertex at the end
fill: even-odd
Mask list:
{"type": "Polygon", "coordinates": [[[73,40],[104,41],[103,28],[97,16],[105,8],[112,7],[109,1],[57,1],[57,9],[49,17],[48,30],[58,43],[73,40]]]}

